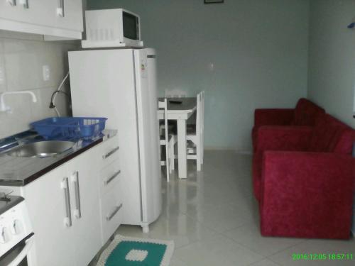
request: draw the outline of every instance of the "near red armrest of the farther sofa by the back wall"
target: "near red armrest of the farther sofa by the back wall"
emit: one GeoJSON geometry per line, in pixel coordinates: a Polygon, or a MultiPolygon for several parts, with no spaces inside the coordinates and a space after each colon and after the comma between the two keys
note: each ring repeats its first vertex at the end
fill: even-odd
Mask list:
{"type": "Polygon", "coordinates": [[[293,121],[295,109],[256,109],[254,111],[254,127],[288,126],[293,121]]]}

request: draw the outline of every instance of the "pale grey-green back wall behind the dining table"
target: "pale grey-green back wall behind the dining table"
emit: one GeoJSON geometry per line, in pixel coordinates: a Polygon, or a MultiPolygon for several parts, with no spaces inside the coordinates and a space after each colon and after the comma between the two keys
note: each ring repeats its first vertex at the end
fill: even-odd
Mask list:
{"type": "Polygon", "coordinates": [[[206,92],[207,148],[251,150],[253,110],[306,96],[308,0],[88,0],[141,16],[158,51],[158,89],[206,92]],[[214,65],[212,70],[210,64],[214,65]]]}

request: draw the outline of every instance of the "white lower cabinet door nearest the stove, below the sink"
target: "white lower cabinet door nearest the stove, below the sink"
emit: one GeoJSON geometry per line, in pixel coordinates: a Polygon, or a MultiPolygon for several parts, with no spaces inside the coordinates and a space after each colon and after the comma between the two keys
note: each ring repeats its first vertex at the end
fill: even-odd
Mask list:
{"type": "MultiPolygon", "coordinates": [[[[68,178],[68,179],[67,179],[68,178]]],[[[35,232],[35,257],[38,266],[72,266],[74,228],[67,224],[65,165],[43,175],[24,187],[28,214],[35,232]],[[64,185],[64,186],[63,186],[64,185]]],[[[70,202],[70,201],[69,201],[70,202]]]]}

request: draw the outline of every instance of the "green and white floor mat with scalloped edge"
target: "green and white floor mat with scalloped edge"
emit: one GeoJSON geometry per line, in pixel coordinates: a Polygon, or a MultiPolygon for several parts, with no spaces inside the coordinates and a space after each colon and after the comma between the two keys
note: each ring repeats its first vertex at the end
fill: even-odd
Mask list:
{"type": "Polygon", "coordinates": [[[174,242],[116,235],[97,266],[168,266],[174,242]]]}

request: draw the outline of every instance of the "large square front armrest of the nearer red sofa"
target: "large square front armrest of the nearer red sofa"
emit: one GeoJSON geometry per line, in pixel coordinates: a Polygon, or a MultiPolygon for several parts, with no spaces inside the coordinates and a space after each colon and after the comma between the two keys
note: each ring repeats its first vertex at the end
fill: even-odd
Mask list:
{"type": "Polygon", "coordinates": [[[261,231],[263,235],[349,238],[353,191],[350,155],[266,152],[261,231]]]}

